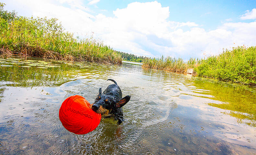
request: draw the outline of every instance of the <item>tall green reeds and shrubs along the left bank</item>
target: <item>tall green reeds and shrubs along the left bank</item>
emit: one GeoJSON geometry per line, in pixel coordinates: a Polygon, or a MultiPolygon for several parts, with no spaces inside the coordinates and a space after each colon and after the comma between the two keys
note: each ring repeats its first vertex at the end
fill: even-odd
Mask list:
{"type": "Polygon", "coordinates": [[[4,10],[0,3],[0,53],[60,60],[121,64],[111,47],[93,39],[75,38],[56,18],[27,18],[4,10]]]}

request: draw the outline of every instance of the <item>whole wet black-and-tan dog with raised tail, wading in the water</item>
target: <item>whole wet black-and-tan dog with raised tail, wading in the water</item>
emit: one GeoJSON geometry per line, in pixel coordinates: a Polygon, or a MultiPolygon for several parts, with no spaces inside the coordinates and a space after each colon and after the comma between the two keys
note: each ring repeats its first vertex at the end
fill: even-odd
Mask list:
{"type": "Polygon", "coordinates": [[[91,109],[103,115],[104,118],[112,117],[118,120],[117,124],[121,124],[124,120],[122,106],[129,102],[131,96],[127,95],[122,98],[122,91],[116,81],[113,79],[108,80],[115,84],[109,85],[103,93],[99,88],[99,95],[91,105],[91,109]]]}

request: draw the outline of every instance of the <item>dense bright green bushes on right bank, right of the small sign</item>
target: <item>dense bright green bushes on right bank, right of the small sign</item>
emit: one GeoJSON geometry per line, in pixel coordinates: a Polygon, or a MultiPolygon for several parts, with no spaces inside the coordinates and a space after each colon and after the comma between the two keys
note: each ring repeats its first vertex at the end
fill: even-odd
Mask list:
{"type": "Polygon", "coordinates": [[[199,76],[256,85],[256,47],[236,47],[201,60],[199,76]]]}

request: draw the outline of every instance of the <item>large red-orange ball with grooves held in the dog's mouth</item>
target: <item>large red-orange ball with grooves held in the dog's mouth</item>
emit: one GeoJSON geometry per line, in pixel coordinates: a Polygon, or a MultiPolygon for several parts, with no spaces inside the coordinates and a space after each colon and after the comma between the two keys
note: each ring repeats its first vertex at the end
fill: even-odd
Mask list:
{"type": "Polygon", "coordinates": [[[99,125],[101,114],[89,108],[90,103],[82,96],[75,95],[64,100],[59,110],[62,125],[75,134],[86,134],[99,125]]]}

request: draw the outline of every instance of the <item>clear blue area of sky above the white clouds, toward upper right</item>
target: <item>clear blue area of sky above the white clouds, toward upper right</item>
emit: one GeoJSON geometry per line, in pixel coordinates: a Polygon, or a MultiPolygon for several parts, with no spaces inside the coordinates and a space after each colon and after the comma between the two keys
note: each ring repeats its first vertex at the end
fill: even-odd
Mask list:
{"type": "MultiPolygon", "coordinates": [[[[108,16],[113,17],[113,10],[117,8],[125,8],[128,4],[135,1],[131,0],[118,0],[118,1],[100,1],[97,3],[98,8],[94,8],[95,13],[105,13],[108,16]],[[115,5],[113,5],[115,4],[115,5]]],[[[136,1],[145,2],[145,1],[136,1]]],[[[153,2],[153,1],[147,1],[153,2]]],[[[239,16],[244,14],[246,10],[252,10],[256,8],[256,1],[191,1],[191,0],[160,0],[162,7],[169,7],[170,21],[187,22],[193,21],[200,25],[203,25],[207,30],[216,28],[221,25],[226,19],[233,19],[239,21],[239,16]]]]}

